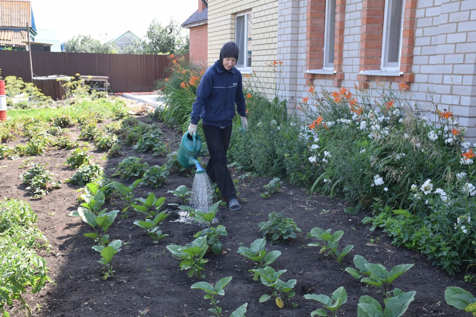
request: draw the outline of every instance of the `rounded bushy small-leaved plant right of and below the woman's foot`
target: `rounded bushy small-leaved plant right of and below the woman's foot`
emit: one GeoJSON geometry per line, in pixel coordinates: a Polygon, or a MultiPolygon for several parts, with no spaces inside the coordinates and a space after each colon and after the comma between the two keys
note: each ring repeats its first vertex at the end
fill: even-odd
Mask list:
{"type": "Polygon", "coordinates": [[[259,231],[263,231],[263,237],[271,239],[271,244],[295,239],[298,233],[302,233],[292,218],[283,217],[282,213],[276,211],[268,215],[268,221],[258,223],[258,227],[259,231]]]}

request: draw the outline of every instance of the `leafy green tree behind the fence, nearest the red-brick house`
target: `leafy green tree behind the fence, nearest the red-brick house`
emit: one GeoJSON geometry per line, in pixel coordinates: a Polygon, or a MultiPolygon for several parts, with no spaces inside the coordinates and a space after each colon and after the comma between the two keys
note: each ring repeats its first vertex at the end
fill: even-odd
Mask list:
{"type": "Polygon", "coordinates": [[[182,34],[177,21],[170,20],[162,26],[155,19],[150,22],[144,40],[144,54],[184,54],[188,53],[188,35],[182,34]]]}

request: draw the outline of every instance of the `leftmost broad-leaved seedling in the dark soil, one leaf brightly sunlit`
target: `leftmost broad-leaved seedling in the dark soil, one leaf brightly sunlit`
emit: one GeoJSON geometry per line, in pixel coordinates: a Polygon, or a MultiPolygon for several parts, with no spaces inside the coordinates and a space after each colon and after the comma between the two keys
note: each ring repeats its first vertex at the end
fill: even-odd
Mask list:
{"type": "Polygon", "coordinates": [[[107,209],[104,208],[99,211],[98,215],[95,215],[86,208],[78,209],[79,217],[94,229],[94,232],[84,233],[83,236],[93,238],[101,246],[109,242],[108,228],[112,225],[119,212],[119,210],[106,211],[107,209]]]}

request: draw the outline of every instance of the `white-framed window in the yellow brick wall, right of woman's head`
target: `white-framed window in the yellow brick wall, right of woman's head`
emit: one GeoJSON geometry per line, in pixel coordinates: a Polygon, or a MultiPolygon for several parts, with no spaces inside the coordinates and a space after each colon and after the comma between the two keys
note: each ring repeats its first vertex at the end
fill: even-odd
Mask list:
{"type": "Polygon", "coordinates": [[[236,16],[235,42],[239,48],[237,68],[251,68],[251,31],[252,31],[251,13],[243,13],[236,16]]]}

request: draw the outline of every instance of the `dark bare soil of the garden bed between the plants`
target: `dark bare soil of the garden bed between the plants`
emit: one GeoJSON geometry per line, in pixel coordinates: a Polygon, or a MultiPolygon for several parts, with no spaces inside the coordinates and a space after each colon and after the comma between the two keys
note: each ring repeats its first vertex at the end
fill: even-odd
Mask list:
{"type": "MultiPolygon", "coordinates": [[[[149,122],[149,121],[148,121],[149,122]]],[[[165,139],[172,150],[178,148],[180,135],[161,125],[166,132],[165,139]]],[[[70,129],[71,139],[79,135],[79,129],[70,129]]],[[[13,145],[25,140],[19,139],[8,143],[13,145]]],[[[91,144],[91,149],[93,145],[91,144]]],[[[148,154],[133,153],[132,149],[124,149],[123,157],[101,160],[103,153],[93,152],[95,162],[99,163],[107,173],[113,169],[125,156],[143,156],[149,165],[163,164],[164,156],[153,157],[148,154]]],[[[57,174],[57,179],[74,174],[63,165],[69,155],[68,150],[52,150],[44,156],[34,157],[34,162],[49,163],[48,168],[57,174]]],[[[208,158],[203,158],[207,161],[208,158]]],[[[50,267],[50,277],[53,283],[47,284],[38,294],[27,294],[26,299],[32,308],[34,316],[67,316],[67,317],[136,317],[139,310],[148,307],[146,316],[151,317],[179,317],[179,316],[211,316],[208,308],[209,301],[203,299],[204,293],[191,289],[197,282],[196,277],[187,277],[185,271],[179,270],[179,262],[172,258],[166,249],[169,244],[185,245],[191,242],[192,237],[201,227],[194,224],[175,222],[178,219],[176,208],[168,208],[170,217],[164,222],[162,231],[169,234],[158,244],[146,235],[145,231],[133,226],[135,219],[141,217],[131,215],[130,218],[117,218],[109,228],[111,239],[121,239],[123,247],[113,261],[115,276],[103,281],[101,279],[101,265],[98,263],[99,254],[91,248],[93,242],[82,234],[89,232],[89,226],[80,218],[68,217],[68,214],[79,206],[76,199],[79,193],[78,186],[63,183],[62,188],[51,191],[49,195],[40,199],[30,198],[21,185],[19,176],[26,169],[19,169],[22,160],[0,160],[0,193],[2,198],[20,198],[31,204],[38,214],[38,226],[50,241],[51,249],[47,254],[42,251],[50,267]]],[[[234,177],[240,174],[232,170],[234,177]]],[[[345,267],[353,267],[352,258],[356,254],[364,256],[372,263],[381,263],[390,269],[402,263],[415,263],[407,273],[398,277],[393,287],[403,291],[416,290],[415,301],[410,304],[404,316],[469,316],[469,314],[446,305],[444,292],[447,286],[459,286],[473,292],[471,284],[462,281],[462,275],[450,277],[439,267],[431,265],[431,261],[406,248],[396,248],[390,244],[391,239],[380,232],[368,231],[369,226],[360,222],[364,214],[349,216],[344,213],[345,203],[331,200],[327,197],[309,197],[305,190],[284,184],[281,192],[272,194],[269,199],[259,196],[262,188],[271,178],[254,178],[246,183],[239,183],[239,200],[242,209],[230,212],[220,209],[219,223],[227,228],[228,236],[223,238],[225,252],[221,255],[207,254],[209,262],[205,265],[205,281],[217,282],[221,277],[232,276],[233,279],[225,287],[225,296],[220,297],[220,306],[223,316],[228,317],[233,310],[248,302],[248,317],[305,317],[310,312],[322,306],[312,300],[304,299],[308,293],[326,294],[340,286],[347,290],[348,300],[339,309],[339,316],[357,316],[357,303],[362,295],[375,297],[383,304],[384,295],[375,288],[361,284],[344,271],[345,267]],[[268,214],[276,210],[285,217],[293,218],[303,234],[294,241],[287,241],[281,245],[269,245],[269,250],[280,250],[282,255],[272,264],[276,270],[287,269],[281,279],[297,279],[294,287],[296,296],[287,305],[279,309],[274,300],[259,303],[258,298],[268,293],[268,287],[259,282],[253,282],[252,274],[248,269],[253,268],[250,261],[236,253],[240,246],[247,246],[256,238],[261,238],[258,232],[258,223],[266,220],[268,214]],[[326,255],[318,254],[318,248],[308,247],[310,240],[306,233],[314,227],[331,228],[332,231],[343,230],[341,247],[347,244],[355,245],[354,249],[344,258],[342,265],[326,255]],[[374,241],[374,243],[371,243],[374,241]],[[291,302],[297,307],[291,306],[291,302]]],[[[132,182],[128,181],[126,184],[132,182]]],[[[193,178],[185,173],[171,171],[165,186],[159,189],[150,187],[136,188],[135,198],[147,197],[147,193],[154,192],[157,197],[166,197],[168,203],[180,203],[180,199],[166,194],[167,190],[186,185],[191,188],[193,178]]],[[[116,206],[105,206],[112,209],[121,209],[119,200],[113,200],[116,206]]],[[[393,288],[392,287],[392,288],[393,288]]],[[[474,293],[474,292],[473,292],[474,293]]],[[[24,316],[20,311],[19,302],[14,302],[9,308],[11,316],[24,316]]]]}

